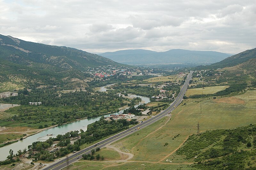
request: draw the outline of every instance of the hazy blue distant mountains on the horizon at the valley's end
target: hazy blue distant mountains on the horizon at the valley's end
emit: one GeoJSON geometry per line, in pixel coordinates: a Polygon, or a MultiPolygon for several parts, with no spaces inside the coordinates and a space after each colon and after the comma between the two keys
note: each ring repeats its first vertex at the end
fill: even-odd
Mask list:
{"type": "Polygon", "coordinates": [[[215,63],[231,54],[216,51],[173,49],[165,52],[151,50],[120,50],[98,54],[123,64],[215,63]]]}

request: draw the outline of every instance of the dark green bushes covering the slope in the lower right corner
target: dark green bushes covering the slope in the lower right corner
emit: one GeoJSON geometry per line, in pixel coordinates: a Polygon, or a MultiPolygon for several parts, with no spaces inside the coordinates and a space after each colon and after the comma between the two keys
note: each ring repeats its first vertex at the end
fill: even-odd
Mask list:
{"type": "Polygon", "coordinates": [[[178,155],[184,155],[187,160],[196,157],[195,161],[198,162],[198,166],[196,167],[202,167],[203,169],[206,169],[206,167],[209,169],[218,169],[221,166],[226,169],[232,169],[231,167],[242,167],[241,169],[243,169],[245,167],[245,158],[251,155],[251,153],[240,151],[240,149],[251,149],[255,147],[256,125],[251,124],[245,127],[212,130],[191,135],[184,146],[176,153],[178,155]],[[219,158],[222,156],[224,157],[219,158]],[[240,162],[236,162],[239,157],[242,159],[239,160],[240,162]],[[213,160],[202,163],[202,161],[208,159],[213,160]],[[231,159],[233,160],[230,161],[231,159]],[[202,165],[199,165],[201,163],[202,165]]]}

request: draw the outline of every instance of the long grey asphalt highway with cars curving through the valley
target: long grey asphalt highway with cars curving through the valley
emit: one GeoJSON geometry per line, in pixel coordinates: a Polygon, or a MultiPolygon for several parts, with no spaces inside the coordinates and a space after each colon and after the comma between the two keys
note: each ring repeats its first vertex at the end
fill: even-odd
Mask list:
{"type": "MultiPolygon", "coordinates": [[[[108,137],[107,139],[104,139],[102,141],[100,141],[99,143],[95,143],[87,148],[84,148],[83,150],[81,151],[77,151],[75,154],[73,155],[70,155],[68,157],[68,162],[69,164],[75,162],[76,160],[78,159],[81,159],[82,158],[82,155],[83,154],[88,154],[88,153],[91,153],[91,150],[92,149],[96,149],[97,147],[100,147],[100,148],[103,148],[105,147],[106,145],[110,144],[110,143],[113,143],[117,140],[120,140],[128,135],[131,135],[132,133],[134,132],[137,132],[138,130],[136,130],[137,128],[145,128],[147,127],[148,125],[151,125],[152,123],[160,120],[161,118],[163,118],[165,115],[168,114],[168,112],[172,112],[182,101],[183,99],[183,96],[188,88],[188,84],[189,84],[189,81],[191,80],[191,77],[192,77],[192,71],[190,71],[190,73],[188,74],[187,76],[187,79],[184,83],[184,85],[182,86],[181,90],[180,90],[180,93],[178,94],[177,98],[175,99],[175,101],[167,108],[164,110],[164,112],[162,113],[159,113],[158,115],[156,115],[155,117],[152,117],[148,120],[145,120],[143,121],[142,123],[139,123],[137,125],[135,125],[134,127],[130,128],[130,129],[127,129],[127,130],[124,130],[116,135],[113,135],[113,136],[110,136],[108,137]]],[[[44,170],[58,170],[58,169],[62,169],[64,167],[67,166],[67,160],[64,158],[50,166],[45,166],[43,167],[44,170]]]]}

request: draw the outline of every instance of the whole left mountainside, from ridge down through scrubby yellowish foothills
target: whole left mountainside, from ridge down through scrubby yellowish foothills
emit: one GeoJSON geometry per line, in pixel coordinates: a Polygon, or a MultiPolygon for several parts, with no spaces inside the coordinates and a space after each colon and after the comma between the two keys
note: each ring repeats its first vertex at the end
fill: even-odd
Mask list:
{"type": "Polygon", "coordinates": [[[83,87],[87,81],[83,71],[107,65],[122,66],[82,50],[0,35],[0,92],[48,85],[83,87]]]}

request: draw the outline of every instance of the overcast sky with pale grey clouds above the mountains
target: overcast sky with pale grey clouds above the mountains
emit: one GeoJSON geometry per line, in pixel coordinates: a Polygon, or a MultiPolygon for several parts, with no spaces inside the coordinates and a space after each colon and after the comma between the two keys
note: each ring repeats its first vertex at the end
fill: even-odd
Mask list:
{"type": "Polygon", "coordinates": [[[0,34],[91,53],[255,48],[255,0],[0,0],[0,34]]]}

